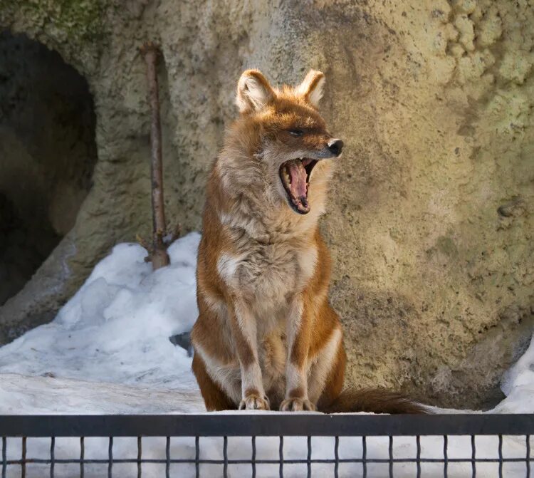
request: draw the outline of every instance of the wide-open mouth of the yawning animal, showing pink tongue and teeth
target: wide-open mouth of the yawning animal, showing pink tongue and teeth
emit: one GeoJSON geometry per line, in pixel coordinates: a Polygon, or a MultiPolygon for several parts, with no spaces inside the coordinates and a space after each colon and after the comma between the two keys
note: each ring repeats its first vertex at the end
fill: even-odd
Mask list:
{"type": "Polygon", "coordinates": [[[298,214],[310,212],[308,185],[311,172],[316,164],[317,160],[310,160],[305,157],[301,160],[286,161],[280,167],[280,179],[288,194],[288,202],[298,214]]]}

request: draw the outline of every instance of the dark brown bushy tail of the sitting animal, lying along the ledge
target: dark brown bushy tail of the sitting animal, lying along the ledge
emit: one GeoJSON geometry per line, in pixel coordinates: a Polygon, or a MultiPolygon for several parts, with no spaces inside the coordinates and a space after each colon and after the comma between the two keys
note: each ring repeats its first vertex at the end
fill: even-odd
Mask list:
{"type": "Polygon", "coordinates": [[[399,393],[389,392],[380,388],[362,388],[355,390],[348,388],[330,403],[319,406],[320,412],[325,413],[429,413],[424,405],[414,402],[399,393]]]}

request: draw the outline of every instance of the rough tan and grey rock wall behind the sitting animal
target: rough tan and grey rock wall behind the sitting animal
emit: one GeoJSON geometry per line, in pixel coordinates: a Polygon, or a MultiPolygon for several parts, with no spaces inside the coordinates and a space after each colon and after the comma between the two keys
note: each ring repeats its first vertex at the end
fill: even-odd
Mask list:
{"type": "Polygon", "coordinates": [[[166,201],[184,231],[241,70],[294,82],[318,68],[346,145],[323,230],[350,382],[493,401],[533,323],[532,24],[527,0],[0,0],[0,27],[61,53],[95,98],[94,186],[49,266],[68,256],[50,303],[148,232],[142,41],[164,54],[166,201]]]}

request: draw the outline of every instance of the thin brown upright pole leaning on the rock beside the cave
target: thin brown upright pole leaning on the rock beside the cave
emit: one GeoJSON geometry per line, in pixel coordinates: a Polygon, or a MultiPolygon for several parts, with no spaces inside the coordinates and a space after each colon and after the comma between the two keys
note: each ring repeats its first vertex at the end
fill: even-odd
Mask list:
{"type": "Polygon", "coordinates": [[[156,63],[159,50],[154,43],[145,43],[141,53],[147,63],[148,98],[152,113],[150,142],[152,146],[152,269],[156,270],[169,265],[169,254],[164,244],[167,234],[165,209],[163,201],[163,167],[162,167],[162,128],[159,119],[159,93],[157,85],[156,63]]]}

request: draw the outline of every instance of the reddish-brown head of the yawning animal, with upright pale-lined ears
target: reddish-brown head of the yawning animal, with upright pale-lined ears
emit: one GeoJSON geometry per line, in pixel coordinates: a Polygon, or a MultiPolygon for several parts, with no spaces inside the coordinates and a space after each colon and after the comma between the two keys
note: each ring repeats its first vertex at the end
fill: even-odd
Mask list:
{"type": "MultiPolygon", "coordinates": [[[[244,156],[261,171],[268,196],[287,202],[298,214],[313,206],[308,190],[319,182],[315,175],[327,174],[328,168],[315,170],[316,165],[339,157],[343,147],[318,113],[324,83],[323,73],[310,71],[298,86],[273,88],[259,71],[247,70],[237,85],[240,118],[231,129],[232,149],[239,142],[244,156]]],[[[251,178],[253,167],[241,165],[247,170],[241,178],[251,178]]]]}

